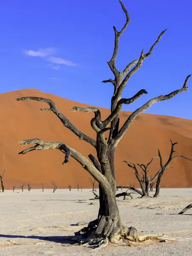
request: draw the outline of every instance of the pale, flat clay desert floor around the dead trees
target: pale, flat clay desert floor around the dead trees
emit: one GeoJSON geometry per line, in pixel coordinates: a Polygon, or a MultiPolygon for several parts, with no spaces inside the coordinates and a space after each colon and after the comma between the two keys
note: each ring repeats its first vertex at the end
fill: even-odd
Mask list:
{"type": "MultiPolygon", "coordinates": [[[[120,192],[120,191],[119,191],[120,192]]],[[[152,192],[151,192],[152,193],[152,192]]],[[[152,194],[151,194],[152,195],[152,194]]],[[[192,202],[192,189],[161,189],[160,198],[118,200],[122,221],[139,232],[181,237],[172,242],[151,241],[131,247],[109,245],[102,250],[52,241],[52,236],[70,236],[79,221],[97,217],[99,202],[91,189],[34,189],[0,193],[0,256],[189,256],[192,249],[192,209],[177,215],[192,202]],[[47,237],[47,239],[45,239],[47,237]]]]}

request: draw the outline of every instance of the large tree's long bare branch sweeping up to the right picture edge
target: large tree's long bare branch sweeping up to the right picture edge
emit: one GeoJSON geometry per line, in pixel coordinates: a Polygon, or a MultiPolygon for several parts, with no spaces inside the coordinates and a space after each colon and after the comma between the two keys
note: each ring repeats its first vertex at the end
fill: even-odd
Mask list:
{"type": "Polygon", "coordinates": [[[183,87],[179,90],[175,90],[172,93],[169,93],[167,95],[160,95],[156,98],[150,99],[148,102],[146,102],[143,106],[141,106],[140,108],[137,108],[136,111],[134,111],[129,117],[128,119],[125,121],[124,125],[122,126],[122,128],[119,130],[118,134],[116,135],[114,141],[115,143],[118,143],[119,140],[121,140],[121,138],[123,137],[123,135],[125,134],[125,132],[128,130],[128,128],[130,127],[130,125],[132,124],[132,122],[134,121],[134,119],[138,116],[138,114],[142,113],[143,111],[146,111],[148,108],[151,107],[151,105],[153,105],[155,102],[160,102],[160,101],[164,101],[167,99],[171,99],[173,98],[176,94],[178,93],[183,93],[183,92],[187,92],[188,91],[188,86],[187,86],[187,81],[189,79],[191,75],[187,76],[185,79],[185,82],[183,84],[183,87]]]}

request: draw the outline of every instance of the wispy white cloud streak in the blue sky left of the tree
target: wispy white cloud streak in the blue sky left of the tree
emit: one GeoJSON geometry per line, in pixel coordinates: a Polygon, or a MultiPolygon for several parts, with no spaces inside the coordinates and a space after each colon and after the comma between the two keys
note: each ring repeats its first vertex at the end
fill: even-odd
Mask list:
{"type": "MultiPolygon", "coordinates": [[[[39,49],[38,51],[33,50],[24,50],[25,54],[32,57],[41,57],[45,58],[47,61],[50,61],[55,64],[64,64],[67,66],[76,66],[75,63],[71,61],[66,61],[63,58],[60,57],[54,57],[52,56],[55,53],[55,48],[46,48],[46,49],[39,49]]],[[[52,66],[53,69],[58,70],[59,65],[52,66]]]]}

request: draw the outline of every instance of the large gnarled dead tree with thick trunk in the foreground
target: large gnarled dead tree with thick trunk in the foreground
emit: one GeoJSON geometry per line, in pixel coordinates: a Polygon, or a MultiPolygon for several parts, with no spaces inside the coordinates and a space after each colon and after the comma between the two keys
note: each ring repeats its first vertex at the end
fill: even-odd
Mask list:
{"type": "MultiPolygon", "coordinates": [[[[122,243],[122,239],[126,238],[128,240],[143,240],[146,238],[144,235],[139,235],[137,230],[133,227],[126,228],[123,226],[119,209],[116,204],[115,192],[116,192],[116,180],[115,180],[115,152],[116,147],[119,141],[124,136],[125,132],[130,128],[131,124],[135,118],[146,111],[151,107],[155,102],[161,102],[167,99],[171,99],[178,93],[183,93],[188,90],[187,81],[189,76],[187,76],[183,86],[167,95],[160,95],[153,99],[148,100],[140,108],[137,108],[131,115],[127,118],[122,127],[119,127],[119,111],[122,109],[123,104],[131,104],[136,99],[147,93],[145,89],[139,90],[131,98],[125,99],[122,98],[122,92],[125,88],[127,82],[142,66],[143,61],[145,61],[153,52],[154,47],[158,44],[160,39],[166,30],[160,33],[157,40],[151,46],[148,52],[144,53],[144,50],[139,54],[138,58],[131,61],[124,70],[119,71],[116,68],[116,58],[119,48],[119,38],[127,28],[130,23],[130,18],[127,10],[125,9],[122,2],[119,0],[119,3],[122,7],[123,12],[125,13],[126,22],[125,25],[119,31],[116,27],[113,27],[115,34],[115,44],[114,51],[111,60],[108,62],[108,65],[113,73],[113,79],[104,80],[103,83],[111,83],[114,87],[114,92],[111,98],[111,114],[106,118],[102,119],[99,108],[82,108],[82,107],[73,107],[72,111],[81,111],[84,113],[92,112],[94,114],[93,119],[91,119],[91,127],[96,132],[96,140],[87,136],[86,134],[79,131],[64,114],[62,114],[55,103],[51,99],[45,99],[41,97],[21,97],[16,99],[17,101],[39,101],[43,102],[42,111],[50,111],[54,113],[61,120],[63,125],[70,129],[74,134],[76,134],[79,139],[86,141],[96,150],[96,157],[92,154],[89,155],[90,160],[84,157],[80,152],[71,148],[69,145],[63,142],[45,142],[40,139],[29,139],[29,140],[20,140],[20,145],[31,145],[30,148],[24,149],[19,154],[26,154],[29,151],[33,150],[47,150],[47,149],[59,149],[65,154],[65,160],[63,164],[69,162],[69,158],[73,157],[89,174],[96,179],[99,183],[99,214],[98,218],[95,221],[90,222],[87,228],[81,230],[81,234],[88,236],[89,244],[99,244],[104,242],[105,244],[108,241],[112,243],[122,243]],[[44,108],[44,104],[47,103],[49,108],[44,108]],[[109,131],[108,138],[106,139],[105,132],[109,131]],[[34,145],[35,144],[35,145],[34,145]],[[94,236],[93,236],[94,233],[94,236]],[[93,238],[94,237],[94,238],[93,238]],[[96,243],[97,241],[97,243],[96,243]]],[[[25,107],[25,105],[24,105],[25,107]]],[[[82,121],[83,122],[83,121],[82,121]]],[[[36,151],[38,153],[38,151],[36,151]]],[[[79,233],[80,234],[80,233],[79,233]]]]}

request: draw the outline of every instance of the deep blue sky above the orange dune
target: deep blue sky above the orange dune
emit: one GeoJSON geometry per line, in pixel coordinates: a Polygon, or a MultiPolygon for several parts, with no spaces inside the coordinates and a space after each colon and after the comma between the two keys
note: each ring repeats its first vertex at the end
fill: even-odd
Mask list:
{"type": "MultiPolygon", "coordinates": [[[[147,95],[123,110],[134,111],[148,99],[183,86],[192,73],[191,0],[122,0],[131,23],[119,41],[119,70],[148,52],[160,32],[168,29],[132,76],[124,98],[140,89],[147,95]]],[[[113,26],[125,23],[118,0],[1,0],[0,93],[24,88],[110,108],[113,78],[108,67],[113,52],[113,26]]],[[[189,92],[159,102],[146,113],[192,119],[189,92]]],[[[27,96],[27,95],[26,95],[27,96]]]]}

